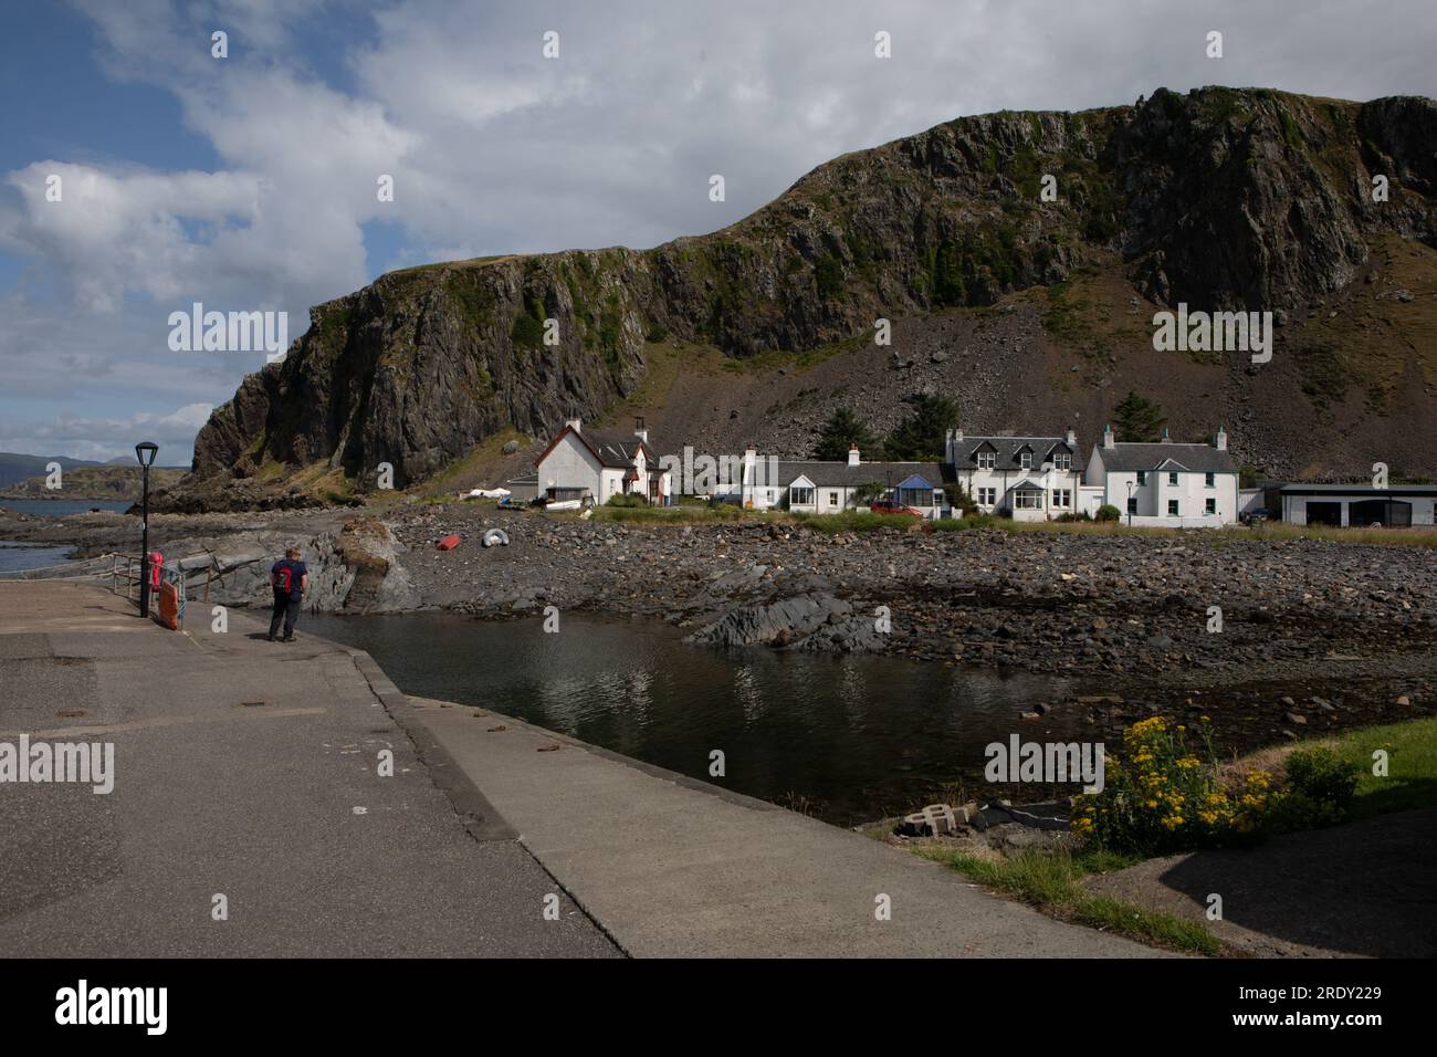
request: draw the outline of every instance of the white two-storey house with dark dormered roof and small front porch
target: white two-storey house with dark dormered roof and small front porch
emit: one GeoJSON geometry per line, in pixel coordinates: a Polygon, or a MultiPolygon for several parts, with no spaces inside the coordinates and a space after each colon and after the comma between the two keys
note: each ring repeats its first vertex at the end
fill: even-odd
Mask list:
{"type": "Polygon", "coordinates": [[[1085,509],[1082,452],[1072,430],[1062,437],[969,437],[948,430],[944,454],[984,513],[1050,521],[1085,509]]]}

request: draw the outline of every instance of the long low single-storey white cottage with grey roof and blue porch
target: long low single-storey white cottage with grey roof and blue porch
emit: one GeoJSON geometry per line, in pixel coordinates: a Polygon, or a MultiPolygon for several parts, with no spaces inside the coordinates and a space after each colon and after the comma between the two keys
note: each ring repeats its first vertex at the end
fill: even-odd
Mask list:
{"type": "Polygon", "coordinates": [[[846,462],[760,460],[750,447],[743,453],[741,479],[724,495],[749,509],[799,513],[838,513],[891,498],[925,518],[943,518],[951,513],[943,490],[951,480],[941,463],[865,463],[858,447],[846,462]]]}

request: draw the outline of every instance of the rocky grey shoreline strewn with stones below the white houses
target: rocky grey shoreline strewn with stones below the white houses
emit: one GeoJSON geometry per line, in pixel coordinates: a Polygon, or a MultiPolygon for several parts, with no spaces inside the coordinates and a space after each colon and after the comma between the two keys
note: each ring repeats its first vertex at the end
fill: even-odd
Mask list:
{"type": "MultiPolygon", "coordinates": [[[[134,549],[135,519],[0,516],[0,538],[134,549]]],[[[1247,538],[973,529],[828,535],[759,519],[644,525],[491,505],[160,515],[152,541],[263,604],[270,555],[306,548],[312,607],[480,618],[592,611],[662,620],[708,647],[885,653],[1079,680],[1104,732],[1211,715],[1224,745],[1427,715],[1437,703],[1437,552],[1247,538]],[[484,548],[484,529],[509,545],[484,548]],[[457,534],[461,544],[438,551],[457,534]],[[1210,630],[1210,607],[1221,630],[1210,630]]]]}

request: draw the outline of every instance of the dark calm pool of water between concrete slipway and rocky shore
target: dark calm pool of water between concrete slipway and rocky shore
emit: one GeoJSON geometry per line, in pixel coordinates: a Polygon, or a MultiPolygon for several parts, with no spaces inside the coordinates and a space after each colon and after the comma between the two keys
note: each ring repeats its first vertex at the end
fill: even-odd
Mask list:
{"type": "Polygon", "coordinates": [[[405,692],[491,708],[696,778],[852,824],[980,781],[983,746],[1091,736],[1072,710],[1017,713],[1073,689],[894,657],[685,646],[664,624],[566,616],[490,623],[454,614],[308,616],[302,630],[368,650],[405,692]]]}

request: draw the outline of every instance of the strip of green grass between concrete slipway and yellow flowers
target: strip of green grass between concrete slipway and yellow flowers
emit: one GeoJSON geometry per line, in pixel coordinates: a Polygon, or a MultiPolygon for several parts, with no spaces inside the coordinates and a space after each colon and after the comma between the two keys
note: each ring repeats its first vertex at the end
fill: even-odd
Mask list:
{"type": "Polygon", "coordinates": [[[924,859],[957,870],[993,892],[1019,899],[1069,922],[1104,932],[1155,943],[1184,953],[1217,955],[1221,945],[1200,922],[1177,915],[1124,903],[1083,890],[1082,879],[1091,873],[1121,870],[1135,859],[1112,853],[1071,854],[1068,851],[1027,850],[990,860],[935,844],[915,847],[924,859]]]}

